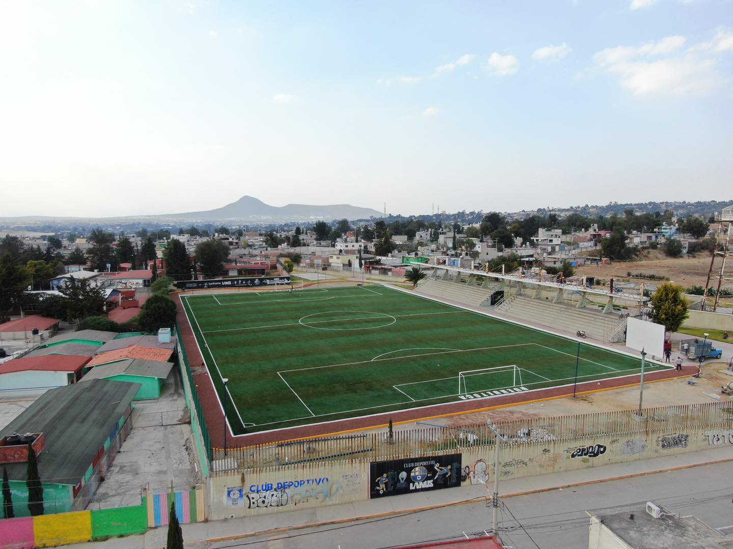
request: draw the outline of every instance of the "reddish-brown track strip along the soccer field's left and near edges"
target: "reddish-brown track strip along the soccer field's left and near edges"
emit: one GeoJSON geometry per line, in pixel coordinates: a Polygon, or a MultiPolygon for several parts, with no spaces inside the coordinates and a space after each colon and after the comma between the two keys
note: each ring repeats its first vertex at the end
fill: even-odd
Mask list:
{"type": "MultiPolygon", "coordinates": [[[[258,290],[261,291],[261,290],[258,290]]],[[[208,370],[200,368],[204,365],[204,360],[196,344],[194,330],[188,322],[188,317],[183,309],[180,300],[180,294],[172,295],[177,305],[177,322],[180,327],[181,336],[183,337],[183,345],[185,346],[188,362],[194,372],[194,382],[199,392],[199,399],[204,409],[206,424],[209,427],[211,436],[211,444],[213,447],[221,448],[224,446],[224,412],[221,410],[213,383],[209,377],[208,370]],[[199,368],[197,368],[199,367],[199,368]]],[[[687,366],[684,371],[677,372],[674,369],[660,370],[647,373],[644,381],[660,381],[662,379],[670,379],[682,376],[690,376],[697,372],[697,367],[687,366]]],[[[616,379],[605,379],[602,381],[586,381],[578,384],[578,394],[583,392],[594,392],[604,389],[613,389],[614,387],[627,386],[637,384],[639,375],[624,376],[616,379]]],[[[251,446],[252,444],[265,444],[268,442],[287,441],[294,438],[312,438],[315,436],[331,435],[341,433],[343,431],[366,429],[368,427],[377,427],[386,425],[391,419],[394,423],[414,421],[427,417],[435,417],[446,414],[458,414],[468,411],[476,411],[485,408],[497,408],[502,406],[513,406],[520,403],[534,402],[536,400],[545,400],[549,398],[557,398],[572,395],[572,386],[550,387],[549,389],[539,389],[532,392],[514,393],[503,397],[477,398],[474,400],[461,400],[456,403],[448,403],[436,406],[424,406],[415,410],[392,411],[386,414],[379,414],[369,417],[355,417],[352,419],[340,419],[333,422],[323,423],[321,425],[302,425],[300,427],[287,427],[272,431],[270,433],[252,433],[251,435],[239,435],[232,438],[231,430],[227,435],[226,445],[228,447],[251,446]]],[[[245,410],[240,413],[245,416],[245,410]]]]}

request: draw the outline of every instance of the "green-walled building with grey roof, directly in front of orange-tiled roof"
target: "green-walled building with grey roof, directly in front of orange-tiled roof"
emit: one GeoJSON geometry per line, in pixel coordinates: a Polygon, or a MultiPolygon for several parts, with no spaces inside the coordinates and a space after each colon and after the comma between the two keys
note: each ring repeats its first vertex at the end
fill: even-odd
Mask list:
{"type": "Polygon", "coordinates": [[[80,383],[93,379],[112,379],[114,381],[128,381],[141,385],[134,400],[159,398],[166,378],[171,372],[171,362],[155,362],[153,360],[124,359],[110,364],[103,364],[89,370],[81,378],[80,383]]]}

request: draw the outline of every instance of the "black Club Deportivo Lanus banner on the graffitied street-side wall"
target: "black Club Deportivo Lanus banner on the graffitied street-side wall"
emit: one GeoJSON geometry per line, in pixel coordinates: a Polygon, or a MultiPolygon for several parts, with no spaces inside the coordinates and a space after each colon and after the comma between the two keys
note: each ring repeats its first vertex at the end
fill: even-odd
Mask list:
{"type": "Polygon", "coordinates": [[[377,461],[369,470],[369,497],[454,488],[460,486],[460,472],[460,454],[377,461]]]}

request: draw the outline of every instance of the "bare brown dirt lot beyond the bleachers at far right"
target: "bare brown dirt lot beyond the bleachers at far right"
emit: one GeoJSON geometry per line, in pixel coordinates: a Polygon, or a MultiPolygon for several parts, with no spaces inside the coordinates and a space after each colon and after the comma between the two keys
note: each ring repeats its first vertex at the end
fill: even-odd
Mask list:
{"type": "MultiPolygon", "coordinates": [[[[719,268],[720,264],[720,260],[718,260],[715,266],[719,268]]],[[[632,272],[635,275],[638,272],[643,272],[645,275],[662,275],[668,277],[674,283],[688,288],[691,285],[704,286],[708,269],[710,269],[710,256],[703,253],[699,253],[697,257],[693,258],[671,259],[663,253],[649,250],[645,258],[640,261],[614,261],[611,265],[581,266],[575,270],[578,276],[604,279],[626,277],[627,272],[632,272]]],[[[729,270],[726,269],[726,271],[729,270]]],[[[733,272],[730,272],[730,275],[733,275],[733,272]]],[[[727,287],[733,289],[733,283],[728,283],[727,287]]]]}

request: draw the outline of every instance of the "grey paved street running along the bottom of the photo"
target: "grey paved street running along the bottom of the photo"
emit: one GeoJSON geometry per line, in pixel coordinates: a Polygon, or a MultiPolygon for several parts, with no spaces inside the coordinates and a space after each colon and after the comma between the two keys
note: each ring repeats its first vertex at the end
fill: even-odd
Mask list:
{"type": "MultiPolygon", "coordinates": [[[[729,462],[507,498],[499,526],[502,540],[515,549],[586,549],[586,509],[631,507],[649,499],[673,512],[695,515],[712,528],[730,526],[733,525],[732,472],[733,463],[729,462]]],[[[210,547],[389,548],[427,540],[456,539],[463,537],[464,532],[471,534],[490,527],[489,507],[483,503],[464,504],[360,523],[290,531],[290,535],[237,539],[210,547]]]]}

